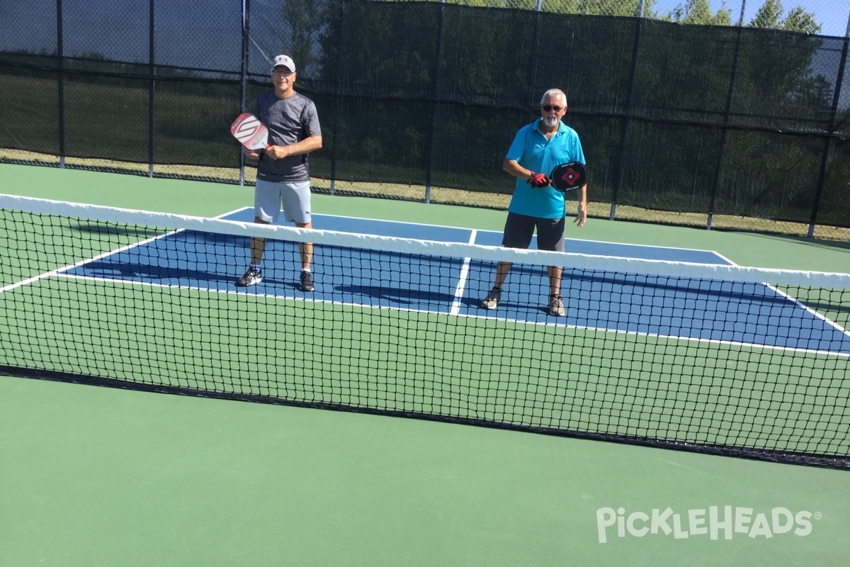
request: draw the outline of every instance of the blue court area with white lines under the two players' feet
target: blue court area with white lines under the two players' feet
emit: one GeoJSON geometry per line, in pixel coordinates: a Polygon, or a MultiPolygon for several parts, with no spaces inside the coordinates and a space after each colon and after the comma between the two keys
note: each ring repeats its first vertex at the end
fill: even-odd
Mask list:
{"type": "MultiPolygon", "coordinates": [[[[246,208],[222,218],[251,221],[246,208]]],[[[501,232],[314,215],[317,230],[498,246],[501,232]]],[[[536,247],[533,242],[531,247],[536,247]]],[[[716,252],[568,240],[567,252],[694,264],[731,264],[716,252]]],[[[316,247],[316,289],[298,290],[297,244],[269,241],[263,281],[237,288],[249,239],[179,231],[63,270],[65,275],[212,292],[251,293],[388,309],[572,326],[608,332],[850,354],[850,332],[785,293],[759,284],[564,269],[565,317],[547,313],[546,269],[514,265],[498,309],[482,309],[496,266],[362,249],[316,247]],[[321,248],[321,249],[320,249],[321,248]]]]}

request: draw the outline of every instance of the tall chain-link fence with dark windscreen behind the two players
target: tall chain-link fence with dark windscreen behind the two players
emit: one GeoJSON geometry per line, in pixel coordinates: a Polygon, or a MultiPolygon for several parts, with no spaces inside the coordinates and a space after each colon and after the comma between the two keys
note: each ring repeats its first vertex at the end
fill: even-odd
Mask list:
{"type": "Polygon", "coordinates": [[[251,183],[229,123],[287,53],[319,191],[505,207],[513,133],[561,87],[592,216],[850,240],[841,37],[581,2],[245,5],[0,0],[0,161],[251,183]]]}

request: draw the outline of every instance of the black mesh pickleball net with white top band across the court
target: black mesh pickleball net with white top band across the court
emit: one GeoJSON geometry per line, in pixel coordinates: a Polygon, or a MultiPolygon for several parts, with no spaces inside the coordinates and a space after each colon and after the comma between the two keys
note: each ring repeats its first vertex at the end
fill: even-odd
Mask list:
{"type": "Polygon", "coordinates": [[[4,374],[850,468],[850,275],[16,196],[0,237],[4,374]],[[263,282],[237,288],[252,236],[263,282]]]}

